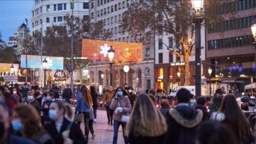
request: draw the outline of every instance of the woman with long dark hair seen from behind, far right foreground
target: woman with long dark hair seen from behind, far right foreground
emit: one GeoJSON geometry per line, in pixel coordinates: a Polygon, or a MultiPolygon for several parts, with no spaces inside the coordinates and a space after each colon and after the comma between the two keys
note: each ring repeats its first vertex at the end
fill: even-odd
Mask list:
{"type": "Polygon", "coordinates": [[[219,111],[224,114],[224,120],[221,122],[230,129],[236,141],[245,144],[251,143],[249,122],[238,106],[235,96],[225,96],[219,111]]]}

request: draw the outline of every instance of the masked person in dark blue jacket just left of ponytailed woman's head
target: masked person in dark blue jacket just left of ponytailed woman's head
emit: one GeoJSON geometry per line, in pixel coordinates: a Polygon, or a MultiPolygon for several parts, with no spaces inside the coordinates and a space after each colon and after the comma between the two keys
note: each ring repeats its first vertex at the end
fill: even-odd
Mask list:
{"type": "Polygon", "coordinates": [[[52,98],[48,94],[45,99],[46,100],[43,101],[43,104],[41,105],[41,108],[40,108],[40,111],[41,111],[40,115],[43,119],[43,124],[48,124],[49,122],[51,122],[51,119],[49,118],[49,107],[52,103],[52,98]]]}

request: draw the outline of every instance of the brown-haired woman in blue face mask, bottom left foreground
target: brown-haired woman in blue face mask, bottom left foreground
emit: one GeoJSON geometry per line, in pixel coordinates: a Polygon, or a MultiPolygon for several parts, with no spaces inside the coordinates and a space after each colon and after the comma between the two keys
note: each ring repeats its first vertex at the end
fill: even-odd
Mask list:
{"type": "Polygon", "coordinates": [[[31,105],[17,105],[12,113],[12,128],[15,132],[22,134],[22,137],[31,139],[39,144],[54,143],[51,136],[45,132],[39,123],[40,117],[31,105]]]}

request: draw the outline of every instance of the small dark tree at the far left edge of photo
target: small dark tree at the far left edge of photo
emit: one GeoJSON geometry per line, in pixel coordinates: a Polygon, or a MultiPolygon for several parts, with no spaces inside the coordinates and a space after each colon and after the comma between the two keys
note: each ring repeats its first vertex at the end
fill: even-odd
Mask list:
{"type": "Polygon", "coordinates": [[[14,63],[16,58],[15,50],[12,47],[0,50],[0,63],[14,63]]]}

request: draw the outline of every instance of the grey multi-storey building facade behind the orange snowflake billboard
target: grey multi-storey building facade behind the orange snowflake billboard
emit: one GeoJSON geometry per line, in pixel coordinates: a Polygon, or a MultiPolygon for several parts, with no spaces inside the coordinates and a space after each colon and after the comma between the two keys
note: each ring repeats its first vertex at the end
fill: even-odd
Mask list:
{"type": "MultiPolygon", "coordinates": [[[[134,0],[91,0],[89,1],[89,16],[91,24],[98,21],[104,22],[105,32],[113,33],[112,41],[137,42],[129,33],[123,31],[120,26],[123,12],[125,12],[134,0]]],[[[154,41],[143,45],[142,62],[129,65],[130,70],[126,74],[126,83],[133,86],[138,92],[144,92],[146,88],[155,88],[154,83],[154,41]]],[[[96,86],[108,86],[110,84],[108,62],[91,61],[89,63],[90,84],[96,86]],[[101,74],[104,74],[103,81],[101,74]],[[103,83],[102,83],[103,82],[103,83]]],[[[123,86],[125,73],[123,65],[114,65],[114,86],[123,86]]]]}

